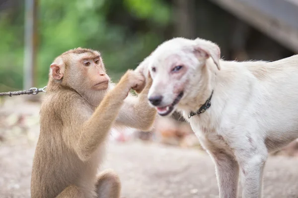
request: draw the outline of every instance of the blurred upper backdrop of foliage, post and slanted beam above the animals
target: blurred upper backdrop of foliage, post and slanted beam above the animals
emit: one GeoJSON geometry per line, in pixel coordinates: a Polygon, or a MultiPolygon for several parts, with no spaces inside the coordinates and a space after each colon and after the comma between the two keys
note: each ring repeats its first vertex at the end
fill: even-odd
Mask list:
{"type": "MultiPolygon", "coordinates": [[[[53,59],[77,47],[101,51],[115,80],[173,37],[211,40],[227,60],[276,60],[297,52],[298,8],[292,14],[275,3],[268,16],[258,16],[262,7],[254,1],[0,0],[0,92],[25,88],[23,71],[31,56],[33,64],[27,67],[33,67],[33,84],[44,86],[53,59]],[[251,7],[232,1],[247,1],[251,7]],[[289,16],[279,19],[280,12],[289,16]],[[292,20],[294,25],[288,25],[292,20]]],[[[295,5],[295,0],[273,1],[295,5]]]]}

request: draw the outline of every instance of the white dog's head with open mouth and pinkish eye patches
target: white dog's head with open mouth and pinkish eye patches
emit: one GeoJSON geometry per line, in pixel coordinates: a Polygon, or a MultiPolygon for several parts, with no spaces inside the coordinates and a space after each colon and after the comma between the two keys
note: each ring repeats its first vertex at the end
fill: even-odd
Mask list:
{"type": "Polygon", "coordinates": [[[220,70],[219,59],[220,48],[203,39],[174,38],[158,46],[140,65],[153,79],[148,99],[158,114],[170,115],[178,103],[203,94],[210,71],[220,70]]]}

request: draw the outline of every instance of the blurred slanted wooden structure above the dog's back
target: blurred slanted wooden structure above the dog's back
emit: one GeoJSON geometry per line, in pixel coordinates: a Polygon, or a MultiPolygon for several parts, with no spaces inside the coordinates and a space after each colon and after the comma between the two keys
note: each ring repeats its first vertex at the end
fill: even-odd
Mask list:
{"type": "Polygon", "coordinates": [[[298,53],[298,0],[210,0],[298,53]]]}

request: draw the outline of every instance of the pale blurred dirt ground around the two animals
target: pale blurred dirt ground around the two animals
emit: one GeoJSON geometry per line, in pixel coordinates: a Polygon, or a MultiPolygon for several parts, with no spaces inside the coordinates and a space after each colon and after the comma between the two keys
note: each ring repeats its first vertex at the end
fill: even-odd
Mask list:
{"type": "MultiPolygon", "coordinates": [[[[26,132],[0,122],[0,198],[29,198],[30,175],[38,137],[38,105],[4,103],[0,116],[11,112],[31,116],[26,132]],[[6,128],[5,128],[6,127],[6,128]],[[5,132],[3,129],[6,129],[5,132]],[[4,135],[3,135],[4,134],[4,135]]],[[[13,116],[8,120],[13,123],[13,116]],[[11,121],[12,120],[12,121],[11,121]]],[[[55,165],[55,164],[53,164],[55,165]]],[[[111,141],[104,168],[114,169],[123,198],[218,198],[214,164],[197,149],[157,143],[111,141]]],[[[298,198],[298,158],[271,156],[264,172],[264,198],[298,198]]]]}

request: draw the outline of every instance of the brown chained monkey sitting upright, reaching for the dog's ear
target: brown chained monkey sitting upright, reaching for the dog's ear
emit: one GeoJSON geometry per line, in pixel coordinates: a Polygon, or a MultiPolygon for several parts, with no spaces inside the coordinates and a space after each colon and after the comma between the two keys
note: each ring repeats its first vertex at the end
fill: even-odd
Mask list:
{"type": "Polygon", "coordinates": [[[113,124],[149,130],[155,110],[147,94],[138,97],[144,77],[127,71],[110,83],[98,51],[72,49],[51,64],[40,110],[40,135],[31,178],[32,198],[119,198],[120,180],[111,170],[98,176],[108,132],[113,124]]]}

